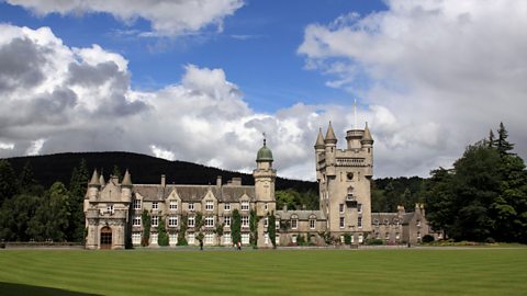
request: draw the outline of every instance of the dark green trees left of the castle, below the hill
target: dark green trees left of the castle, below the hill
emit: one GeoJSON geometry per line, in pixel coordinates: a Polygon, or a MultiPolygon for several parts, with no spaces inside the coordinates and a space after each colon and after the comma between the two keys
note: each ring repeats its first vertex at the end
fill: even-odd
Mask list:
{"type": "Polygon", "coordinates": [[[69,186],[45,189],[33,178],[30,162],[19,175],[0,160],[0,239],[7,241],[72,241],[85,238],[86,161],[71,172],[69,186]]]}

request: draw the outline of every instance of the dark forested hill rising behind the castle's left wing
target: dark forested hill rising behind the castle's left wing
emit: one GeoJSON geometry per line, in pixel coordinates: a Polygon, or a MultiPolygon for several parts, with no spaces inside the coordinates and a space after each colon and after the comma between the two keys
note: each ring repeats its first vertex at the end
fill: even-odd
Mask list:
{"type": "MultiPolygon", "coordinates": [[[[222,175],[224,183],[234,177],[242,178],[243,183],[247,185],[255,183],[251,174],[132,152],[70,152],[15,157],[7,160],[16,173],[21,172],[29,162],[34,179],[45,187],[49,187],[55,181],[69,184],[71,171],[82,159],[90,170],[90,175],[93,169],[98,169],[99,172],[102,170],[104,178],[108,179],[116,167],[123,174],[127,169],[132,174],[132,181],[142,184],[157,184],[160,182],[161,174],[166,174],[167,184],[215,184],[217,175],[222,175]]],[[[299,192],[318,191],[316,182],[277,178],[277,190],[284,189],[294,189],[299,192]]]]}

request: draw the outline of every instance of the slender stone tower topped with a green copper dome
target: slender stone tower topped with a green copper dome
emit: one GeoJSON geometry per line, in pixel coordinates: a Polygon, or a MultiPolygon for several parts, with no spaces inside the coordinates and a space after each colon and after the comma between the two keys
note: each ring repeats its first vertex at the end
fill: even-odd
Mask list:
{"type": "MultiPolygon", "coordinates": [[[[272,151],[267,147],[266,139],[264,139],[264,146],[256,156],[256,170],[253,171],[253,177],[255,178],[256,215],[259,217],[266,217],[276,210],[274,180],[277,170],[272,169],[272,151]]],[[[268,247],[264,240],[266,232],[265,218],[261,218],[258,223],[258,247],[260,248],[268,247]]]]}

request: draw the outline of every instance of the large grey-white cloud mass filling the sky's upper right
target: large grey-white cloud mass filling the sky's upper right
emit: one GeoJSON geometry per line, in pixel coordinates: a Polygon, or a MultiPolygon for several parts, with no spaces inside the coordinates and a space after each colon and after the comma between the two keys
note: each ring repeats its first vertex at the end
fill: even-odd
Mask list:
{"type": "Polygon", "coordinates": [[[501,121],[527,157],[527,2],[386,1],[388,10],[307,25],[307,69],[370,104],[381,174],[449,167],[501,121]],[[365,83],[366,81],[366,83],[365,83]]]}

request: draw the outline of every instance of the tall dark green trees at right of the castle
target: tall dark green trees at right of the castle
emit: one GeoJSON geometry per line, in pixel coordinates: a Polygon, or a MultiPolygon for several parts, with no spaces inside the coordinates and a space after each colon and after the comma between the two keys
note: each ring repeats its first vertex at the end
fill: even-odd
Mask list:
{"type": "Polygon", "coordinates": [[[426,182],[427,219],[456,240],[527,242],[527,171],[503,123],[426,182]]]}

